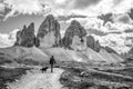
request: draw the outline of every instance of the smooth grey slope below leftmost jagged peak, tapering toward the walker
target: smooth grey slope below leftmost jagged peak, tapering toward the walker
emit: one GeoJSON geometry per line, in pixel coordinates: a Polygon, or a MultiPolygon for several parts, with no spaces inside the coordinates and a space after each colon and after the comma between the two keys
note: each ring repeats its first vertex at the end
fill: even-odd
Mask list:
{"type": "Polygon", "coordinates": [[[49,57],[35,47],[0,48],[0,63],[11,63],[12,61],[18,61],[19,63],[33,61],[34,63],[42,62],[48,59],[49,57]]]}

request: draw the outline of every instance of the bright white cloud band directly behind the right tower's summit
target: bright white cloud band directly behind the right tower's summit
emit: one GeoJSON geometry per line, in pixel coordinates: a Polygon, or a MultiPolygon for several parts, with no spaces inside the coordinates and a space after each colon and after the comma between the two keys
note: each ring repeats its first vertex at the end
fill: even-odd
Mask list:
{"type": "Polygon", "coordinates": [[[103,33],[113,33],[113,32],[124,32],[129,29],[133,29],[131,23],[121,22],[120,19],[114,20],[114,22],[106,22],[99,18],[71,18],[65,21],[66,23],[71,23],[72,20],[78,20],[85,29],[94,29],[101,31],[103,33]]]}

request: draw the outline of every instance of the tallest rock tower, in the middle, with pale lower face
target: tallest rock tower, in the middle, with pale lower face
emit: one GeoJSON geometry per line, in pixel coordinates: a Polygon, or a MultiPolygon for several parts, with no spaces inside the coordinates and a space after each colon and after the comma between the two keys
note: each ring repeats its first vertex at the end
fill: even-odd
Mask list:
{"type": "Polygon", "coordinates": [[[52,14],[49,14],[41,23],[37,38],[41,47],[59,46],[61,41],[60,23],[52,14]]]}

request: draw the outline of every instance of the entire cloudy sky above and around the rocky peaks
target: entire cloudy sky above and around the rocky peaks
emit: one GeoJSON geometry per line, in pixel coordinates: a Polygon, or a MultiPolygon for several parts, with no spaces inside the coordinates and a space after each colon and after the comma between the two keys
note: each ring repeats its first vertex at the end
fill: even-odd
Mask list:
{"type": "Polygon", "coordinates": [[[48,14],[60,21],[62,36],[78,20],[102,46],[125,52],[133,44],[133,0],[0,0],[0,37],[30,22],[38,31],[48,14]]]}

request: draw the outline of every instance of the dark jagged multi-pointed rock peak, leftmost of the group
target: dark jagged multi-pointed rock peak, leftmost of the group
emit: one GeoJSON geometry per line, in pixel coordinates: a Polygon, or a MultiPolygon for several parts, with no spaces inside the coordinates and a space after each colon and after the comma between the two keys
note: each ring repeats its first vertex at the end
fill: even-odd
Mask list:
{"type": "Polygon", "coordinates": [[[17,41],[16,46],[22,46],[22,47],[33,47],[34,46],[34,23],[32,22],[28,28],[23,26],[23,29],[21,31],[17,32],[17,41]]]}

